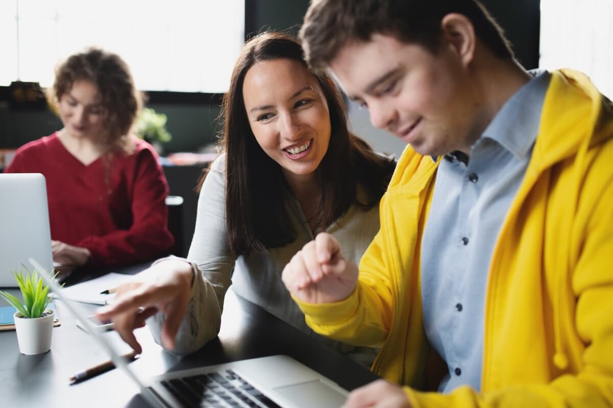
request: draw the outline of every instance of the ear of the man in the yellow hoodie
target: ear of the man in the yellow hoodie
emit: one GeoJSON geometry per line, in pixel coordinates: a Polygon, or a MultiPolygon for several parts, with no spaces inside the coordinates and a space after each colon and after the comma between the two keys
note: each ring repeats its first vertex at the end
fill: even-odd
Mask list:
{"type": "Polygon", "coordinates": [[[477,38],[474,26],[468,17],[459,13],[449,13],[441,20],[443,41],[451,45],[464,66],[474,59],[477,38]]]}

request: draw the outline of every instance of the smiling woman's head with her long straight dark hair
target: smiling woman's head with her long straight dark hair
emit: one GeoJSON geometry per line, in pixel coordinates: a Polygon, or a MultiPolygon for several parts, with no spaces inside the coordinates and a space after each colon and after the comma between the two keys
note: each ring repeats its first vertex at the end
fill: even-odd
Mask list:
{"type": "Polygon", "coordinates": [[[306,68],[302,48],[287,35],[262,34],[245,46],[223,114],[227,228],[237,254],[296,239],[288,193],[311,231],[321,231],[352,205],[375,206],[394,169],[349,132],[340,93],[329,76],[306,68]]]}

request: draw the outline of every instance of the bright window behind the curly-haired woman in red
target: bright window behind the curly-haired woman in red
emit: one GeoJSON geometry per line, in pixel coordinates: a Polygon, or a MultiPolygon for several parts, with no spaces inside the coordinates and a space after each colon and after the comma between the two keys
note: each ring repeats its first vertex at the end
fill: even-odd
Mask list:
{"type": "Polygon", "coordinates": [[[225,92],[244,31],[245,0],[1,1],[0,85],[49,86],[58,61],[95,45],[139,89],[225,92]]]}

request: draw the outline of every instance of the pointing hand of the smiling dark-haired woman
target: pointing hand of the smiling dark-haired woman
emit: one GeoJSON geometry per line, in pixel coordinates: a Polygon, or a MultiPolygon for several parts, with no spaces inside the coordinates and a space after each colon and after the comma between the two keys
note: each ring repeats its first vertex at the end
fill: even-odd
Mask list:
{"type": "Polygon", "coordinates": [[[115,301],[97,310],[96,316],[101,321],[113,321],[121,338],[140,353],[142,347],[134,329],[143,327],[145,319],[161,311],[166,315],[162,344],[172,350],[189,303],[193,276],[188,262],[173,259],[159,262],[118,286],[115,301]]]}

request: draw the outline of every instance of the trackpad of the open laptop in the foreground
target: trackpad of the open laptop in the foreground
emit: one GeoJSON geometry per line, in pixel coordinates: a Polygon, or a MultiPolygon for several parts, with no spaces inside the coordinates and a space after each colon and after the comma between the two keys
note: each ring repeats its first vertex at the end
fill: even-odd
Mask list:
{"type": "Polygon", "coordinates": [[[275,394],[291,401],[292,406],[297,408],[338,408],[346,399],[345,393],[335,390],[320,380],[275,388],[275,394]]]}

